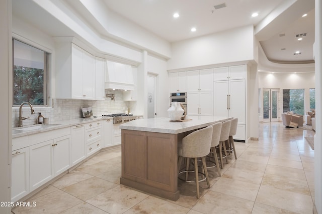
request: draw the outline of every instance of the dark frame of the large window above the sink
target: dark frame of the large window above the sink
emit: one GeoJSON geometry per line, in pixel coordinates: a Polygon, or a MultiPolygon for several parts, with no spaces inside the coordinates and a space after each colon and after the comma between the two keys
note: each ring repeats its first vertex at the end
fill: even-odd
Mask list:
{"type": "MultiPolygon", "coordinates": [[[[26,44],[26,45],[28,45],[28,46],[31,46],[31,47],[33,47],[33,48],[36,48],[36,49],[38,49],[38,50],[41,50],[41,51],[43,51],[44,52],[44,74],[43,74],[43,105],[34,105],[33,104],[33,106],[35,106],[35,107],[48,107],[49,106],[49,104],[48,104],[48,102],[49,102],[49,96],[48,96],[48,77],[49,77],[49,66],[48,66],[48,62],[49,62],[49,52],[47,51],[47,50],[44,50],[44,48],[41,48],[41,47],[39,47],[39,46],[36,46],[36,45],[32,45],[31,43],[32,42],[27,42],[27,41],[25,41],[25,40],[21,40],[21,39],[18,39],[18,38],[16,38],[16,37],[12,37],[12,72],[14,73],[14,56],[15,56],[15,53],[14,53],[14,40],[17,40],[17,41],[19,41],[19,42],[21,42],[21,43],[24,43],[24,44],[26,44]]],[[[13,78],[13,80],[12,80],[13,82],[12,82],[12,85],[14,86],[14,78],[13,78]]],[[[13,87],[14,88],[14,87],[13,87]]],[[[12,106],[13,107],[19,107],[20,105],[14,105],[14,90],[12,90],[12,106]]]]}

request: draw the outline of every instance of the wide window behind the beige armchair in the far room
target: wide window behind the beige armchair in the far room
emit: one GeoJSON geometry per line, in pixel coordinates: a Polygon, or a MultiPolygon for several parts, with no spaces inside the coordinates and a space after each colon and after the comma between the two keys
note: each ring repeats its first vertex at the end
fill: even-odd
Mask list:
{"type": "Polygon", "coordinates": [[[283,112],[304,115],[304,89],[283,89],[283,112]]]}

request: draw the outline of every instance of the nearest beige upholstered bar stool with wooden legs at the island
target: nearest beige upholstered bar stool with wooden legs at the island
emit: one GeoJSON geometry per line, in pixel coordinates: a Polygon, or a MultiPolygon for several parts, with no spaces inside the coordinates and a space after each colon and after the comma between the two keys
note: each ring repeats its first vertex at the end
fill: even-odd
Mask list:
{"type": "MultiPolygon", "coordinates": [[[[211,146],[211,139],[212,139],[212,126],[208,126],[207,128],[199,129],[197,131],[194,131],[187,136],[185,136],[182,139],[182,144],[178,145],[178,173],[179,175],[181,173],[186,173],[186,181],[187,180],[187,175],[188,172],[195,172],[195,181],[196,182],[196,190],[197,190],[197,198],[200,197],[199,194],[199,181],[203,181],[206,179],[208,188],[210,188],[210,183],[209,183],[209,176],[208,176],[208,171],[206,167],[206,160],[205,156],[209,154],[210,146],[211,146]],[[187,168],[186,171],[180,172],[180,166],[182,163],[183,157],[187,158],[187,168]],[[197,159],[201,157],[202,161],[202,167],[204,170],[205,178],[199,180],[199,173],[198,172],[198,161],[197,159]],[[194,158],[195,162],[195,170],[188,170],[189,169],[189,160],[190,158],[194,158]]],[[[201,173],[202,174],[202,173],[201,173]]]]}

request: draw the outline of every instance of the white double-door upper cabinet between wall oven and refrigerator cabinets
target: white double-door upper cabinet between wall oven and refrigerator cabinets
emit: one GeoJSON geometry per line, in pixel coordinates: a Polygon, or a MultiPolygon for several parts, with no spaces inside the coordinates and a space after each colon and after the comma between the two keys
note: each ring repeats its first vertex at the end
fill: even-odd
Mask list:
{"type": "Polygon", "coordinates": [[[204,69],[187,72],[187,92],[212,91],[213,70],[204,69]]]}

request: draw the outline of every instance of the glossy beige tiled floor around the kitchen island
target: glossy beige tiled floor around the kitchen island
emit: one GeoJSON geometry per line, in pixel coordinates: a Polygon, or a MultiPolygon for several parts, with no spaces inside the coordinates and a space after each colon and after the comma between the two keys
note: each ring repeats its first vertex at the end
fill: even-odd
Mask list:
{"type": "Polygon", "coordinates": [[[259,141],[235,142],[222,176],[209,170],[211,188],[179,181],[180,198],[166,200],[120,185],[121,149],[100,152],[28,199],[14,213],[312,213],[314,151],[311,130],[261,123],[259,141]]]}

